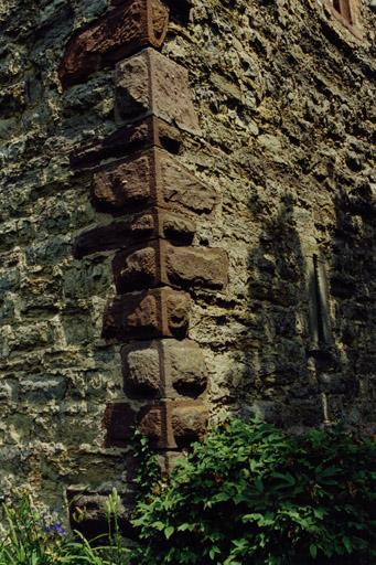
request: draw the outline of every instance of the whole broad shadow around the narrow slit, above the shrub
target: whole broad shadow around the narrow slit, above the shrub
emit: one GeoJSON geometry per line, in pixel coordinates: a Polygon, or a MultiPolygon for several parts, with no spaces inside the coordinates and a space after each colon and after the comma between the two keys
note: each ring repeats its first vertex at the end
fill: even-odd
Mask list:
{"type": "MultiPolygon", "coordinates": [[[[363,186],[340,191],[333,206],[336,225],[322,249],[303,243],[293,195],[262,215],[248,257],[247,370],[234,393],[244,416],[297,430],[340,420],[372,428],[375,205],[363,186]]],[[[262,213],[257,195],[249,207],[262,213]]]]}

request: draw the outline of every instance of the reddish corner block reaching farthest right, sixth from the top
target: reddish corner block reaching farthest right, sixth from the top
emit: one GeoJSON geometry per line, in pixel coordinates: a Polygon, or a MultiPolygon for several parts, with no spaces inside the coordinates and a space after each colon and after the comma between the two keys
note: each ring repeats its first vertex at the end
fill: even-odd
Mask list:
{"type": "Polygon", "coordinates": [[[157,239],[120,252],[112,266],[119,294],[162,285],[222,289],[228,258],[223,249],[174,247],[157,239]]]}

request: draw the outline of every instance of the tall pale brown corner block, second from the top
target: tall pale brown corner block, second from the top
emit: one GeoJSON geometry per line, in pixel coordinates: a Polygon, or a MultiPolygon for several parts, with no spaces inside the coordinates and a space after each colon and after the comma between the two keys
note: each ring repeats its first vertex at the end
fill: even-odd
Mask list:
{"type": "Polygon", "coordinates": [[[121,61],[116,70],[117,106],[123,119],[158,116],[179,128],[200,134],[187,71],[147,49],[121,61]]]}

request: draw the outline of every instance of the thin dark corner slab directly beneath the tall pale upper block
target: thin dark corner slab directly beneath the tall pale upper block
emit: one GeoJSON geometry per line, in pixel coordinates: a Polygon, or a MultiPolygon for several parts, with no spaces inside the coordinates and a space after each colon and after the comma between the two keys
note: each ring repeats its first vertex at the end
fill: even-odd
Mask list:
{"type": "Polygon", "coordinates": [[[131,152],[159,147],[178,153],[181,146],[180,131],[155,116],[148,116],[114,131],[105,139],[76,148],[69,156],[75,169],[97,167],[103,159],[125,157],[131,152]]]}

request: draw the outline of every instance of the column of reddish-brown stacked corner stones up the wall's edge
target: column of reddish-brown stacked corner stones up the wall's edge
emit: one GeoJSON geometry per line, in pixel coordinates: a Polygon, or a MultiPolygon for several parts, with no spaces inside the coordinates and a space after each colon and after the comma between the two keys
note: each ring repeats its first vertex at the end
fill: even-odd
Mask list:
{"type": "Polygon", "coordinates": [[[169,23],[162,0],[128,0],[67,44],[60,76],[65,88],[117,63],[111,136],[79,148],[72,166],[92,169],[92,202],[106,225],[82,233],[77,258],[115,252],[117,296],[104,316],[105,339],[123,343],[126,401],[106,412],[107,445],[125,445],[138,423],[152,446],[171,460],[204,430],[206,369],[191,341],[192,287],[227,282],[223,249],[192,245],[196,222],[210,216],[216,193],[181,166],[181,131],[200,134],[187,72],[157,49],[169,23]]]}

